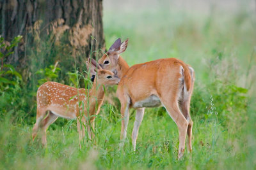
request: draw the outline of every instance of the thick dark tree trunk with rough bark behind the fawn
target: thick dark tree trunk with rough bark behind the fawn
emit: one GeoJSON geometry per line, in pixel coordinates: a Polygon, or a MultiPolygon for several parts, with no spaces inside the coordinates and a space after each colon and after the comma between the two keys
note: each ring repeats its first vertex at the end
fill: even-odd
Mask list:
{"type": "Polygon", "coordinates": [[[79,66],[93,51],[104,49],[102,0],[0,0],[0,9],[1,36],[6,41],[23,36],[13,55],[5,61],[20,71],[36,71],[56,60],[60,64],[72,60],[79,66]],[[66,38],[61,39],[63,35],[66,38]],[[48,49],[51,53],[47,53],[48,49]],[[31,69],[28,65],[33,62],[41,65],[31,69]]]}

